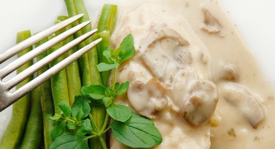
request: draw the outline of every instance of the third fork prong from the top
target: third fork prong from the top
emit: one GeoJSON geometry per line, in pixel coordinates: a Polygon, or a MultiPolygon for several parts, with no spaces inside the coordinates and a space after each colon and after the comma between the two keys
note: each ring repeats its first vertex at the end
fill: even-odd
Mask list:
{"type": "Polygon", "coordinates": [[[84,40],[86,40],[88,37],[90,37],[93,34],[95,34],[95,32],[97,32],[97,29],[92,30],[92,31],[90,31],[90,32],[88,32],[88,33],[86,33],[86,34],[84,34],[84,35],[76,38],[72,42],[70,42],[70,43],[62,46],[58,50],[52,52],[51,54],[49,54],[48,56],[46,56],[42,60],[36,62],[32,66],[30,66],[29,68],[25,69],[24,71],[22,71],[21,73],[19,73],[18,75],[16,75],[15,77],[11,78],[10,80],[6,81],[3,84],[5,84],[6,87],[7,87],[7,89],[10,90],[11,88],[15,87],[15,85],[17,85],[21,81],[25,80],[27,77],[29,77],[30,75],[34,74],[35,72],[37,72],[38,70],[40,70],[41,68],[43,68],[44,66],[46,66],[47,64],[49,64],[50,62],[52,62],[54,59],[56,59],[59,56],[63,55],[68,50],[72,49],[73,47],[75,47],[79,43],[81,43],[84,40]]]}

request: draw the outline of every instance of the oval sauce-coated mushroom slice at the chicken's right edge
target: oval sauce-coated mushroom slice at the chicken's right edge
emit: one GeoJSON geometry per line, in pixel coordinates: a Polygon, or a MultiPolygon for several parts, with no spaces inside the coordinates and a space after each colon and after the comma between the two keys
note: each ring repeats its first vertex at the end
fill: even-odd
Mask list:
{"type": "Polygon", "coordinates": [[[182,106],[184,119],[192,126],[206,123],[215,112],[218,97],[218,89],[213,82],[198,80],[182,106]]]}

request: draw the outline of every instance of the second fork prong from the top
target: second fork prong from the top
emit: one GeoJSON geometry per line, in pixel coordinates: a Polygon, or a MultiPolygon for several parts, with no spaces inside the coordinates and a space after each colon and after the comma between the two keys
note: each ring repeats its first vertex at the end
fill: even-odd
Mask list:
{"type": "Polygon", "coordinates": [[[5,66],[2,69],[0,69],[0,72],[1,72],[0,79],[3,79],[4,77],[6,77],[7,75],[9,75],[11,72],[13,72],[17,68],[19,68],[20,66],[22,66],[23,64],[25,64],[26,62],[32,60],[33,58],[35,58],[39,54],[41,54],[44,51],[46,51],[49,48],[51,48],[52,46],[58,44],[62,40],[68,38],[72,34],[76,33],[79,30],[81,30],[82,28],[84,28],[85,26],[87,26],[89,23],[91,23],[91,21],[83,22],[83,23],[79,24],[78,26],[75,26],[75,27],[69,29],[69,30],[63,32],[62,34],[56,36],[55,38],[49,40],[48,42],[42,44],[41,46],[38,46],[34,50],[32,50],[32,51],[24,54],[23,56],[17,58],[15,61],[9,63],[7,66],[5,66]]]}

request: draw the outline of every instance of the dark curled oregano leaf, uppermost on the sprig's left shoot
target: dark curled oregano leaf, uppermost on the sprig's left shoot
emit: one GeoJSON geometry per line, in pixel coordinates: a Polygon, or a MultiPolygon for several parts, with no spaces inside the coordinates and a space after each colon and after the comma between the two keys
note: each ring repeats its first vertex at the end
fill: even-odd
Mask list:
{"type": "Polygon", "coordinates": [[[76,95],[72,105],[72,117],[82,120],[89,115],[90,111],[91,107],[89,103],[82,96],[76,95]]]}

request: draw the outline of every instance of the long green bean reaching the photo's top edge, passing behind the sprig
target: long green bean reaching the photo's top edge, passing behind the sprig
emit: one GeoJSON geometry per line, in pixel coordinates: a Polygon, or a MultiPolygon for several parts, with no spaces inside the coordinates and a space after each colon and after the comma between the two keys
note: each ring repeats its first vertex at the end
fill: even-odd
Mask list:
{"type": "MultiPolygon", "coordinates": [[[[82,23],[84,21],[88,21],[89,19],[89,15],[87,13],[87,10],[85,9],[85,5],[84,5],[84,1],[83,0],[64,0],[67,10],[68,10],[68,15],[69,17],[72,17],[74,15],[77,15],[79,13],[84,13],[85,15],[79,19],[78,22],[73,23],[72,26],[77,25],[77,23],[82,23]]],[[[81,30],[81,32],[77,32],[77,34],[74,34],[75,37],[79,37],[82,34],[85,34],[86,32],[89,32],[92,30],[91,24],[89,24],[88,26],[86,26],[85,28],[83,28],[81,30]]],[[[84,45],[87,45],[89,43],[91,43],[93,41],[93,37],[88,38],[87,40],[85,40],[85,42],[82,42],[82,44],[84,43],[84,45]]],[[[83,45],[79,45],[77,46],[77,49],[82,48],[83,45]]],[[[99,71],[97,70],[96,65],[98,64],[98,55],[97,55],[97,50],[96,48],[93,48],[92,50],[90,50],[87,53],[88,56],[88,63],[86,61],[86,63],[84,62],[79,62],[80,64],[80,68],[82,70],[82,67],[88,67],[89,66],[89,74],[84,74],[85,72],[83,72],[82,70],[82,85],[86,86],[86,85],[90,85],[90,84],[102,84],[101,81],[101,76],[99,71]],[[83,66],[83,65],[86,66],[83,66]],[[88,66],[87,66],[88,64],[88,66]],[[85,82],[83,77],[87,77],[90,76],[90,82],[85,82]]],[[[94,105],[93,103],[91,103],[91,114],[93,115],[93,117],[95,117],[95,123],[97,125],[97,127],[100,129],[103,126],[104,120],[105,120],[105,115],[106,115],[106,110],[103,104],[101,105],[94,105]]],[[[89,139],[89,144],[90,144],[90,148],[93,149],[101,149],[102,146],[99,142],[99,138],[98,137],[94,137],[89,139]]]]}

